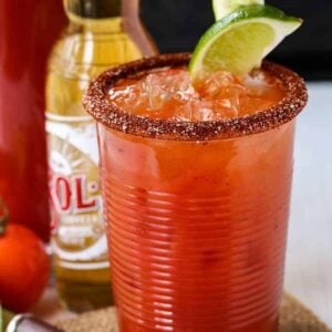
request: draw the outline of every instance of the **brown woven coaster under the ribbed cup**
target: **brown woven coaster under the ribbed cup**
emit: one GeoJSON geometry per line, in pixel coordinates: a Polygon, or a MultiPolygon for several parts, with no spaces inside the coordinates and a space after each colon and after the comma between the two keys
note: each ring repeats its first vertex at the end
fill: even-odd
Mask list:
{"type": "MultiPolygon", "coordinates": [[[[117,332],[114,308],[93,311],[58,322],[65,332],[117,332]]],[[[332,332],[309,309],[286,295],[281,307],[280,332],[332,332]]]]}

